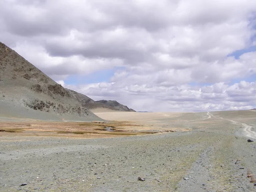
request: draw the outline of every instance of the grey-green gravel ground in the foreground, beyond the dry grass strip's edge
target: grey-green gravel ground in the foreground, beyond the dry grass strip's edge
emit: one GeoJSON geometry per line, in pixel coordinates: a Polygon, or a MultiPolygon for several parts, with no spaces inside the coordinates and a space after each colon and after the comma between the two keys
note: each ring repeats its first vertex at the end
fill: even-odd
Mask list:
{"type": "Polygon", "coordinates": [[[241,124],[226,120],[254,128],[255,119],[247,113],[235,119],[236,114],[212,113],[217,115],[223,119],[207,113],[180,116],[172,126],[191,131],[175,133],[103,139],[2,136],[0,191],[256,191],[247,178],[256,174],[256,142],[247,142],[241,124]]]}

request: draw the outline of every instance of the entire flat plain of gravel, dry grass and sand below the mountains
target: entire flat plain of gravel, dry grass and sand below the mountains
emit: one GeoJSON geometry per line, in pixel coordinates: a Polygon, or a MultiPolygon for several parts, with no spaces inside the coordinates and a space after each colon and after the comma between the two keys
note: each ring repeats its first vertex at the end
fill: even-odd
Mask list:
{"type": "Polygon", "coordinates": [[[0,191],[256,191],[255,111],[96,111],[107,121],[2,119],[0,191]]]}

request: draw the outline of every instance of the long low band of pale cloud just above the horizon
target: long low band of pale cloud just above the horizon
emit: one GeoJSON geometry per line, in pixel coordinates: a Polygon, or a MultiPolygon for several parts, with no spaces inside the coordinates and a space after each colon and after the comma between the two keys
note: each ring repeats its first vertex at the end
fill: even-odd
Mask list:
{"type": "Polygon", "coordinates": [[[256,105],[256,82],[224,82],[208,86],[147,87],[130,85],[119,87],[118,83],[68,85],[92,99],[117,100],[135,110],[145,111],[219,111],[251,109],[256,105]],[[133,99],[129,99],[133,98],[133,99]]]}

